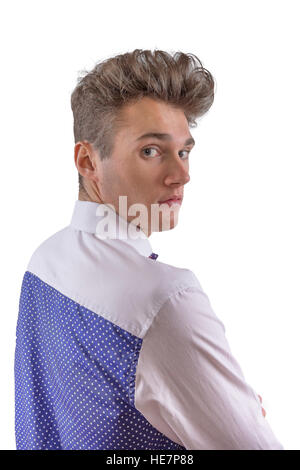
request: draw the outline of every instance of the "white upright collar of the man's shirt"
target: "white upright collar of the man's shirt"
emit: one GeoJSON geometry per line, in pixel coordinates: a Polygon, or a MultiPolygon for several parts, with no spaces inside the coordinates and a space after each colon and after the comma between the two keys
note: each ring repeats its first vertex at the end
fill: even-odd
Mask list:
{"type": "Polygon", "coordinates": [[[132,230],[135,228],[133,224],[129,224],[109,204],[76,200],[70,226],[76,230],[95,234],[99,239],[119,239],[133,246],[143,256],[148,257],[152,253],[146,234],[138,227],[132,230]],[[103,219],[105,223],[101,222],[103,219]],[[130,230],[128,230],[129,225],[130,230]]]}

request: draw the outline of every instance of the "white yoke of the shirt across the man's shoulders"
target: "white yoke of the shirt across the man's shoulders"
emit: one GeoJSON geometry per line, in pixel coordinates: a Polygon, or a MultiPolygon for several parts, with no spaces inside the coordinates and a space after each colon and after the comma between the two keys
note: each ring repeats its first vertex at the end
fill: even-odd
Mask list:
{"type": "Polygon", "coordinates": [[[27,270],[139,338],[168,298],[200,287],[189,269],[142,256],[122,240],[99,240],[69,226],[38,246],[27,270]]]}

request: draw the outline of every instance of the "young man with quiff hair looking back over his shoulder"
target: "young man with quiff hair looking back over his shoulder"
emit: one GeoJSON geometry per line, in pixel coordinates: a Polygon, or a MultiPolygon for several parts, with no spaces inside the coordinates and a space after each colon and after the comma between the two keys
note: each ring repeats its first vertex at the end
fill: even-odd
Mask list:
{"type": "Polygon", "coordinates": [[[178,222],[213,96],[196,56],[139,49],[73,91],[79,197],[23,279],[18,449],[283,449],[198,279],[149,242],[178,222]]]}

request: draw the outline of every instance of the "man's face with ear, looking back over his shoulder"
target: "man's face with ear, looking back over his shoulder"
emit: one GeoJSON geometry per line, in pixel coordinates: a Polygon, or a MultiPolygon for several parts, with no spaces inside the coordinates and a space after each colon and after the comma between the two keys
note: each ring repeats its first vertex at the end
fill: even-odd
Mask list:
{"type": "Polygon", "coordinates": [[[122,125],[108,159],[101,161],[91,147],[87,147],[90,151],[86,155],[84,147],[76,144],[76,166],[78,170],[83,168],[80,173],[88,183],[91,200],[112,204],[124,217],[119,196],[126,196],[127,211],[136,203],[145,208],[142,218],[138,219],[141,212],[134,210],[137,206],[125,218],[134,221],[147,236],[153,231],[172,229],[177,224],[182,201],[165,204],[161,201],[174,196],[183,198],[184,185],[190,180],[189,151],[194,140],[187,119],[182,110],[149,97],[126,105],[120,117],[122,125]],[[143,137],[149,133],[164,135],[143,137]],[[88,168],[84,156],[91,160],[88,168]]]}

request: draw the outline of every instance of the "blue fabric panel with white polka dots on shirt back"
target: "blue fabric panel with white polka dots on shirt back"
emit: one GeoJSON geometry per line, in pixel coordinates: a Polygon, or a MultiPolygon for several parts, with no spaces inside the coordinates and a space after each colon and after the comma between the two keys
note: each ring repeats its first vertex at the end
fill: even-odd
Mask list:
{"type": "Polygon", "coordinates": [[[183,450],[134,407],[142,341],[26,271],[15,350],[17,449],[183,450]]]}

